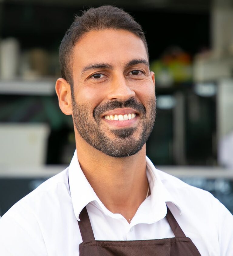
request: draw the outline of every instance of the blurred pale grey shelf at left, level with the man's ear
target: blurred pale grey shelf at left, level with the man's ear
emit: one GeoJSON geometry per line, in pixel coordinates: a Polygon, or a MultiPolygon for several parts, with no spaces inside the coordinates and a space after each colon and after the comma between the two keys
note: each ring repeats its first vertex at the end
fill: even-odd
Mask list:
{"type": "Polygon", "coordinates": [[[55,80],[0,80],[0,94],[55,95],[55,80]]]}

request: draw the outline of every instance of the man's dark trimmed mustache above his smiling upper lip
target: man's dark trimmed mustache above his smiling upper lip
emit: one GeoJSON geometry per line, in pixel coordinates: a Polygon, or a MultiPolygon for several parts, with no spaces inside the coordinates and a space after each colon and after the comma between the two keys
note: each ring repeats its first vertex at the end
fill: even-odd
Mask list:
{"type": "Polygon", "coordinates": [[[123,107],[131,107],[135,109],[140,114],[146,114],[146,108],[142,103],[139,103],[136,99],[129,99],[126,101],[109,101],[103,103],[102,105],[98,105],[93,110],[93,116],[98,117],[102,115],[106,111],[114,110],[116,108],[123,108],[123,107]]]}

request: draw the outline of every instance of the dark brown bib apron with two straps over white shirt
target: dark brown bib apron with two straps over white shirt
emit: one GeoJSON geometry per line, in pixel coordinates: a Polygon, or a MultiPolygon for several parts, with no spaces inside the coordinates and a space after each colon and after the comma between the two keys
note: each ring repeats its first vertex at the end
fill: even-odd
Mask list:
{"type": "Polygon", "coordinates": [[[95,240],[86,207],[81,211],[79,229],[83,242],[80,256],[201,256],[190,238],[186,237],[167,208],[167,220],[175,235],[172,238],[136,241],[95,240]]]}

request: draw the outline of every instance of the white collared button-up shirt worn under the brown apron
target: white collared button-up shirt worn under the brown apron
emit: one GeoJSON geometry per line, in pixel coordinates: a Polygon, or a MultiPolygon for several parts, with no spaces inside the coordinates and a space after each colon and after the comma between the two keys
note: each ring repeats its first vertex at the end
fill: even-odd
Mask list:
{"type": "Polygon", "coordinates": [[[167,204],[202,256],[232,256],[233,216],[225,206],[209,192],[157,170],[148,158],[146,163],[151,195],[129,224],[121,214],[106,209],[97,197],[75,151],[68,168],[2,216],[0,255],[78,256],[82,238],[77,220],[86,205],[96,240],[174,237],[164,218],[167,204]]]}

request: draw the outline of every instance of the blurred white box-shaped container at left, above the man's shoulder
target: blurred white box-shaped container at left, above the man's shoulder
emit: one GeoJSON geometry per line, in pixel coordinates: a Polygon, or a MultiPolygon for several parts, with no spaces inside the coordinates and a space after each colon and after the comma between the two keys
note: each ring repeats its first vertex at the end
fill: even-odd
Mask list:
{"type": "Polygon", "coordinates": [[[45,164],[49,131],[46,124],[0,123],[0,171],[1,167],[45,164]]]}

